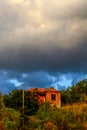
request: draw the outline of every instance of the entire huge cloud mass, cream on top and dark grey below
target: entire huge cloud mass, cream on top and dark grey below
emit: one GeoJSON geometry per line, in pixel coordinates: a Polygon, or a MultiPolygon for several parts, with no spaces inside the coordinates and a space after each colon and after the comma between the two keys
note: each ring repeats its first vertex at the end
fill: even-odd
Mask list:
{"type": "Polygon", "coordinates": [[[86,1],[48,2],[37,0],[16,6],[1,1],[1,69],[87,71],[86,1]]]}

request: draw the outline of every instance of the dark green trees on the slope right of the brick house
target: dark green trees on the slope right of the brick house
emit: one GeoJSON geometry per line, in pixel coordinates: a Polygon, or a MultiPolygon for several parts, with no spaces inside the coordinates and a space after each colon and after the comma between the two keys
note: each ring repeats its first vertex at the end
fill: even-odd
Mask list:
{"type": "Polygon", "coordinates": [[[87,100],[87,80],[80,81],[75,86],[67,88],[61,92],[62,105],[87,100]]]}

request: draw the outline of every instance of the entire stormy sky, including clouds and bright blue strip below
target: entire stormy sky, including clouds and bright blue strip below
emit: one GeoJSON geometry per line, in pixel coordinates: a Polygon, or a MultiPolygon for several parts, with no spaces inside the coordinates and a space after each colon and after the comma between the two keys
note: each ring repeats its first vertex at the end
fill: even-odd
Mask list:
{"type": "Polygon", "coordinates": [[[87,0],[0,0],[0,91],[87,78],[87,0]]]}

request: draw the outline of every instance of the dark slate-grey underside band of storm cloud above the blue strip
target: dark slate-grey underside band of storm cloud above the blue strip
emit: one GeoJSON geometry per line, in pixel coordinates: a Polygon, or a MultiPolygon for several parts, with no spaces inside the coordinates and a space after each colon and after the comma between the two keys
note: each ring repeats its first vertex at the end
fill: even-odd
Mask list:
{"type": "Polygon", "coordinates": [[[0,53],[0,68],[19,71],[87,71],[87,41],[74,47],[47,50],[21,48],[0,53]]]}

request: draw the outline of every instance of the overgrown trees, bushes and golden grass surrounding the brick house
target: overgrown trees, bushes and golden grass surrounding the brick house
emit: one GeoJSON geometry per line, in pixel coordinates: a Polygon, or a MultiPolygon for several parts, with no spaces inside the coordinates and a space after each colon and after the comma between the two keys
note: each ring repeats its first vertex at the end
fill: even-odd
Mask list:
{"type": "Polygon", "coordinates": [[[25,92],[22,111],[22,90],[0,94],[0,130],[87,130],[87,80],[61,92],[62,107],[49,103],[38,106],[37,99],[25,92]]]}

